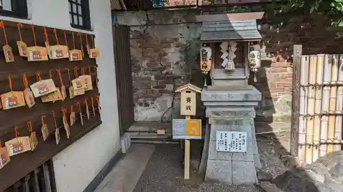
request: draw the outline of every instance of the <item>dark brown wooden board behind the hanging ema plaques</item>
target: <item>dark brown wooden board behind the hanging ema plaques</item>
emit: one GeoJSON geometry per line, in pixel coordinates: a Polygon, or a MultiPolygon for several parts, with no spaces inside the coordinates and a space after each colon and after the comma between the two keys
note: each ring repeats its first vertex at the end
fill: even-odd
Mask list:
{"type": "MultiPolygon", "coordinates": [[[[27,106],[18,107],[15,109],[2,110],[0,109],[0,140],[4,146],[5,141],[14,138],[14,126],[18,126],[18,131],[20,136],[29,136],[29,129],[27,128],[27,121],[31,120],[34,131],[36,131],[38,137],[38,146],[33,152],[25,152],[23,154],[17,154],[11,157],[10,163],[5,165],[0,169],[0,191],[4,191],[10,187],[14,182],[20,180],[29,172],[32,172],[36,167],[45,163],[45,161],[51,159],[58,152],[70,146],[71,143],[91,131],[93,128],[96,128],[101,124],[99,112],[95,113],[95,116],[92,114],[91,107],[91,97],[99,96],[99,92],[96,86],[96,74],[94,66],[97,66],[95,59],[89,59],[86,53],[86,36],[82,34],[82,44],[84,49],[84,59],[82,61],[69,61],[68,59],[54,59],[48,61],[32,61],[29,62],[25,57],[19,56],[19,51],[16,46],[16,41],[19,40],[19,31],[17,29],[16,23],[5,21],[5,31],[7,33],[8,44],[12,47],[14,53],[14,62],[6,63],[3,56],[2,46],[5,45],[5,38],[3,38],[3,29],[0,28],[0,94],[5,94],[9,92],[8,86],[8,76],[9,74],[12,77],[12,86],[14,91],[23,91],[23,74],[27,74],[29,85],[36,82],[36,72],[39,71],[42,79],[49,78],[49,70],[52,72],[52,78],[56,87],[60,87],[60,80],[56,69],[60,69],[62,73],[62,79],[64,85],[67,87],[67,99],[64,101],[57,101],[55,103],[43,103],[40,101],[40,98],[36,98],[36,105],[29,109],[27,106]],[[69,98],[69,77],[67,74],[68,68],[71,72],[71,78],[74,78],[73,68],[74,66],[78,67],[78,74],[80,74],[80,69],[82,67],[86,68],[86,74],[88,74],[88,66],[91,66],[91,76],[93,80],[93,90],[86,92],[82,96],[76,96],[73,99],[69,98]],[[91,112],[90,120],[87,120],[84,105],[82,105],[83,111],[83,120],[84,126],[81,126],[80,115],[78,113],[78,107],[75,106],[75,103],[80,102],[87,98],[88,107],[91,112]],[[70,127],[71,129],[71,138],[67,139],[66,132],[62,128],[62,112],[61,108],[67,108],[67,119],[69,121],[70,106],[74,105],[74,111],[77,114],[78,120],[76,123],[70,127]],[[56,120],[58,127],[60,128],[60,143],[56,145],[55,140],[55,125],[54,118],[51,113],[54,111],[56,113],[56,120]],[[45,122],[48,125],[49,129],[49,138],[47,141],[43,141],[42,133],[40,128],[42,126],[40,117],[45,115],[45,122]]],[[[36,34],[36,43],[37,46],[45,46],[45,36],[44,36],[44,27],[35,26],[36,34]]],[[[66,44],[64,40],[64,31],[56,29],[58,33],[58,40],[60,44],[66,44]]],[[[34,37],[32,32],[32,25],[23,25],[22,29],[23,41],[26,42],[27,46],[34,46],[34,37]]],[[[56,38],[54,35],[54,29],[47,28],[47,33],[49,34],[50,45],[56,44],[56,38]]],[[[66,31],[67,42],[69,49],[73,49],[73,38],[71,31],[66,31]]],[[[75,36],[75,46],[76,49],[81,49],[80,47],[80,38],[77,36],[77,33],[74,33],[75,36]]],[[[88,42],[93,47],[93,42],[91,36],[88,36],[88,42]]],[[[95,108],[97,108],[97,102],[94,100],[95,108]]],[[[87,150],[86,148],[84,150],[87,150]]]]}

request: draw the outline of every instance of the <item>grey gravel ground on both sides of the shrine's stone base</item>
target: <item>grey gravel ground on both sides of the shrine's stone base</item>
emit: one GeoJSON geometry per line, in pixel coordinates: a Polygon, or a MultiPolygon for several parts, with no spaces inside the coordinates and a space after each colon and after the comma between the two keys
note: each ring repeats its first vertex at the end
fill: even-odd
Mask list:
{"type": "MultiPolygon", "coordinates": [[[[270,138],[269,138],[270,139],[270,138]]],[[[196,167],[201,154],[201,142],[191,141],[191,176],[190,180],[183,179],[180,146],[159,144],[147,163],[134,192],[259,192],[255,186],[225,186],[204,182],[204,175],[198,174],[196,167]]],[[[283,174],[287,167],[280,158],[287,154],[278,142],[258,141],[261,154],[262,171],[273,177],[283,174]]]]}

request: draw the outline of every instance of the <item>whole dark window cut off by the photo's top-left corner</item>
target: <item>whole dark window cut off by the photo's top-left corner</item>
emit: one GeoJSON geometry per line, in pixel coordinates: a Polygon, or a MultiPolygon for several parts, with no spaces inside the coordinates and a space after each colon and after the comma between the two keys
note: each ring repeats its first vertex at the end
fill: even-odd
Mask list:
{"type": "Polygon", "coordinates": [[[27,0],[0,0],[0,15],[27,18],[27,0]]]}

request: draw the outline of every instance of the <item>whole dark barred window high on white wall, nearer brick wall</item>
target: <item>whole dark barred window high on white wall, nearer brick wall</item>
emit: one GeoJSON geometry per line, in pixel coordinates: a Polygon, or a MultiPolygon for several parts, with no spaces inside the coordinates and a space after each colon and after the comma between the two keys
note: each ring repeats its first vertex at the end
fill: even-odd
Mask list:
{"type": "Polygon", "coordinates": [[[71,27],[78,29],[91,29],[91,18],[89,15],[88,0],[68,0],[69,17],[71,27]]]}

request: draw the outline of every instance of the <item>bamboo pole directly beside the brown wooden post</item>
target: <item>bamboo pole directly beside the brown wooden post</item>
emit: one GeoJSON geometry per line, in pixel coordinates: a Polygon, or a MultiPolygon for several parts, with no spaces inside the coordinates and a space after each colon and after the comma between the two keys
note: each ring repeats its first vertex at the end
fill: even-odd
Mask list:
{"type": "Polygon", "coordinates": [[[309,84],[309,56],[301,56],[300,67],[300,102],[299,102],[299,129],[298,129],[298,159],[300,165],[305,163],[305,143],[306,143],[306,118],[307,115],[307,95],[309,84]]]}

